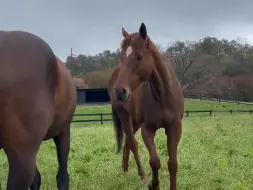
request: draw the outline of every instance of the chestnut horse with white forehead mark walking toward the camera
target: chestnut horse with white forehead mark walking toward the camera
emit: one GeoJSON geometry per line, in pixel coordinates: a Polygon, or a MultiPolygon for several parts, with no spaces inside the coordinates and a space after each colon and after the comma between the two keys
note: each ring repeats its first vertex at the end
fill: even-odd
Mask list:
{"type": "Polygon", "coordinates": [[[177,189],[177,147],[182,133],[184,96],[177,76],[147,35],[146,26],[141,24],[139,32],[129,34],[122,28],[120,65],[108,82],[118,151],[123,132],[126,135],[123,169],[127,171],[130,150],[145,179],[139,159],[135,133],[141,127],[143,141],[150,156],[152,181],[149,189],[159,189],[158,171],[161,167],[154,137],[159,128],[167,135],[168,170],[170,189],[177,189]]]}

